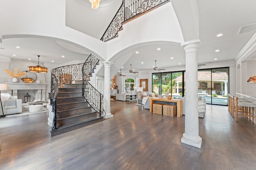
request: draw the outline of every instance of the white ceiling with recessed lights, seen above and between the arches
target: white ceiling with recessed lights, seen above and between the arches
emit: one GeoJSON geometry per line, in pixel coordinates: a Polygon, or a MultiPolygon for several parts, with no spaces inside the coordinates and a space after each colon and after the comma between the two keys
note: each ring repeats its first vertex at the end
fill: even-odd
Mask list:
{"type": "MultiPolygon", "coordinates": [[[[73,29],[100,39],[122,0],[101,0],[97,10],[92,10],[90,2],[87,1],[89,2],[89,0],[66,0],[66,12],[69,14],[66,14],[66,23],[73,29]],[[88,17],[88,14],[91,17],[88,17]]],[[[256,22],[255,6],[255,0],[242,2],[238,0],[198,0],[202,43],[198,51],[198,63],[234,60],[256,33],[256,31],[251,31],[237,34],[241,25],[256,22]],[[216,37],[218,33],[223,33],[223,36],[216,37]],[[214,52],[216,49],[220,51],[214,52]]],[[[25,60],[30,58],[32,61],[38,61],[37,55],[40,55],[40,62],[52,64],[54,61],[54,64],[63,64],[70,60],[84,60],[89,54],[84,49],[81,49],[79,53],[74,53],[56,42],[54,39],[40,38],[3,39],[0,43],[0,48],[3,48],[0,49],[0,56],[25,60]],[[13,56],[14,54],[16,56],[13,56]],[[62,55],[65,57],[61,57],[62,55]]],[[[122,71],[130,70],[130,64],[135,70],[153,69],[155,60],[157,60],[158,68],[178,66],[179,63],[185,64],[184,50],[179,44],[158,42],[154,45],[138,47],[136,51],[139,53],[136,54],[135,51],[132,53],[122,71]],[[158,51],[157,48],[161,50],[158,51]]],[[[254,56],[249,58],[252,57],[254,56]]]]}

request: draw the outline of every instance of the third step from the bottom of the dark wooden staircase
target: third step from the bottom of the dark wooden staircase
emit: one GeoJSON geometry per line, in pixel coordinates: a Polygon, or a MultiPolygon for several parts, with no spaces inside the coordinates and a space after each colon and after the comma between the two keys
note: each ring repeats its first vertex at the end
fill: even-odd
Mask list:
{"type": "Polygon", "coordinates": [[[82,114],[91,113],[91,112],[92,112],[92,107],[88,106],[88,107],[69,109],[69,110],[63,110],[63,111],[57,110],[57,115],[58,115],[58,119],[63,119],[63,118],[72,117],[74,115],[82,115],[82,114]]]}

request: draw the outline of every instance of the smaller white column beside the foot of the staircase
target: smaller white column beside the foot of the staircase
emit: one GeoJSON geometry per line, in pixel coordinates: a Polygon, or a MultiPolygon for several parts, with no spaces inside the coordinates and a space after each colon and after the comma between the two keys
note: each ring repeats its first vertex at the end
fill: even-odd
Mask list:
{"type": "Polygon", "coordinates": [[[110,61],[102,62],[104,64],[104,110],[106,112],[105,119],[113,117],[110,113],[110,66],[113,64],[110,61]]]}

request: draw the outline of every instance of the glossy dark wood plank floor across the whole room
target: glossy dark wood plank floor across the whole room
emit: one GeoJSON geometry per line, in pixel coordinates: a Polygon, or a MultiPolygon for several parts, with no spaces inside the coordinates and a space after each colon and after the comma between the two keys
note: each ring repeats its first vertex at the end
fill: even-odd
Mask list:
{"type": "Polygon", "coordinates": [[[50,137],[48,114],[0,118],[1,170],[255,170],[256,126],[226,106],[199,118],[202,148],[180,143],[184,118],[111,101],[113,118],[50,137]]]}

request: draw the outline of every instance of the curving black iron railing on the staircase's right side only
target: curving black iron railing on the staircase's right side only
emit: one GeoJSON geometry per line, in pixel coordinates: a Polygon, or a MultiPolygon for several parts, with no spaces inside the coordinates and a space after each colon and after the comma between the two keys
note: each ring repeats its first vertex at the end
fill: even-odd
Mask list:
{"type": "Polygon", "coordinates": [[[83,96],[88,104],[94,109],[100,117],[106,115],[103,108],[103,94],[101,94],[92,84],[87,80],[87,77],[94,72],[95,66],[99,63],[99,59],[96,59],[95,56],[90,55],[88,59],[84,62],[82,67],[83,73],[83,96]]]}

